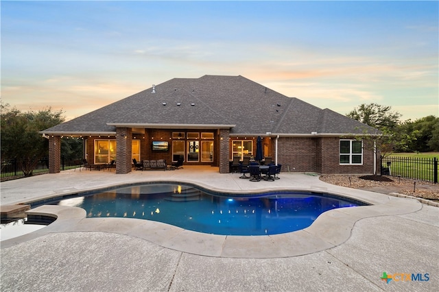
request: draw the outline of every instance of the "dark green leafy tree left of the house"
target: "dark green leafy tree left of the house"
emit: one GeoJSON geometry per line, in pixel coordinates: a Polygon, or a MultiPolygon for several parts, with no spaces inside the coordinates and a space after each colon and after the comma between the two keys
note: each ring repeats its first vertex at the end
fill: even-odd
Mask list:
{"type": "Polygon", "coordinates": [[[1,104],[1,158],[19,161],[25,176],[32,175],[38,161],[47,156],[49,143],[38,132],[64,121],[62,110],[51,108],[21,112],[1,104]]]}

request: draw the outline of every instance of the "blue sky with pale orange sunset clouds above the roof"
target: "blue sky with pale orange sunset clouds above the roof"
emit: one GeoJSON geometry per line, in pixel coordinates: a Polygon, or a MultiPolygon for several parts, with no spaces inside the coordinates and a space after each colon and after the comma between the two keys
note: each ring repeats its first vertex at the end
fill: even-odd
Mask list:
{"type": "Polygon", "coordinates": [[[66,120],[174,77],[242,75],[347,114],[439,117],[438,1],[1,1],[1,102],[66,120]]]}

